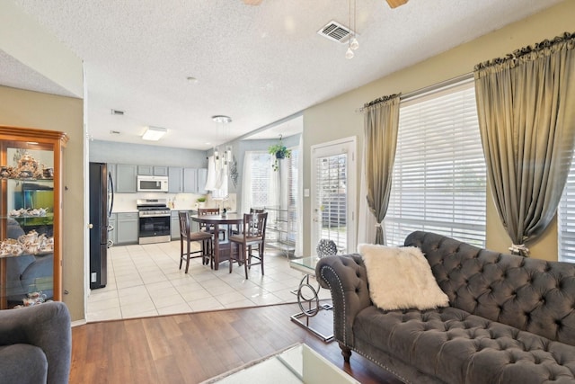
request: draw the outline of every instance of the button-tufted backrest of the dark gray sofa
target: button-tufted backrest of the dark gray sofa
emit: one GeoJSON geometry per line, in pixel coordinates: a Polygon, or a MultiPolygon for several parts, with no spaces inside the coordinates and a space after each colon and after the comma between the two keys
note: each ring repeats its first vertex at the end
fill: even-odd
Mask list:
{"type": "Polygon", "coordinates": [[[429,232],[413,232],[452,307],[575,345],[575,265],[504,255],[429,232]]]}

